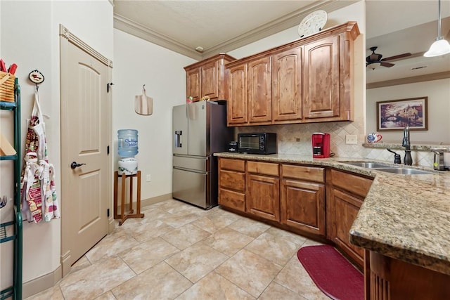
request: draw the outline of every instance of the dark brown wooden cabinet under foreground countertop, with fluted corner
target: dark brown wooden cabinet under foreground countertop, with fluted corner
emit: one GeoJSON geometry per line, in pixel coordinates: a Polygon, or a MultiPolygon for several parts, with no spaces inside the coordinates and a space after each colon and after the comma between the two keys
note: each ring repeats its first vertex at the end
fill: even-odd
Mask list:
{"type": "Polygon", "coordinates": [[[366,297],[370,300],[450,299],[450,275],[377,252],[370,252],[370,270],[365,276],[369,282],[366,297]]]}

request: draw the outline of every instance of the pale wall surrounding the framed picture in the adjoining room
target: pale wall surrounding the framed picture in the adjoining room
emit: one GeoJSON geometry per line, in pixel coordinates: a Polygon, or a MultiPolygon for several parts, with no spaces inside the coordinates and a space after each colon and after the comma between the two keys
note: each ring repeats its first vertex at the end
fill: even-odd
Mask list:
{"type": "MultiPolygon", "coordinates": [[[[377,131],[378,101],[428,97],[428,131],[411,131],[411,143],[450,145],[450,79],[367,90],[367,131],[377,131]]],[[[402,131],[381,131],[383,141],[401,143],[402,131]]]]}

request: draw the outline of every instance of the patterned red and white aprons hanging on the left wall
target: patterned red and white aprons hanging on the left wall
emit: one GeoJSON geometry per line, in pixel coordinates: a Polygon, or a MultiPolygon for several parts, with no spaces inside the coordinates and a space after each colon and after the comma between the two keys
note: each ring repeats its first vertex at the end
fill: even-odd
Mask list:
{"type": "Polygon", "coordinates": [[[55,169],[49,163],[47,143],[39,104],[39,91],[34,91],[34,106],[25,142],[25,165],[22,179],[22,211],[29,222],[38,223],[59,218],[55,169]],[[32,153],[35,159],[30,159],[32,153]],[[39,162],[39,163],[38,163],[39,162]],[[39,196],[37,195],[39,191],[39,196]]]}

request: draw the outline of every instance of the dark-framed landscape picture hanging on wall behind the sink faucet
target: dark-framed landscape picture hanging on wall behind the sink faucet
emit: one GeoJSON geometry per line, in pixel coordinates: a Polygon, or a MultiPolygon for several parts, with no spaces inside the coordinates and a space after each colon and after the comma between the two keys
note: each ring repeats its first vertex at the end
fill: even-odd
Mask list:
{"type": "Polygon", "coordinates": [[[377,102],[377,131],[428,130],[428,97],[377,102]]]}

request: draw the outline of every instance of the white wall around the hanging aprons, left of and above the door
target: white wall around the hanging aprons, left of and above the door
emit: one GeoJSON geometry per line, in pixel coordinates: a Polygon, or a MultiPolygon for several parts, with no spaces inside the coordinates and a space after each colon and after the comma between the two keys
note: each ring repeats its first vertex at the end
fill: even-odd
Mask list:
{"type": "MultiPolygon", "coordinates": [[[[56,167],[60,195],[60,89],[59,24],[113,59],[113,6],[108,0],[96,1],[1,1],[1,57],[18,64],[16,72],[22,91],[22,141],[26,118],[32,110],[34,85],[27,79],[32,70],[44,74],[39,88],[41,106],[50,119],[46,122],[49,159],[56,167]]],[[[3,115],[2,115],[3,116],[3,115]]],[[[8,124],[1,118],[2,132],[8,124]]],[[[6,122],[9,123],[9,122],[6,122]]],[[[8,131],[12,134],[11,126],[8,131]]],[[[3,167],[3,165],[2,165],[3,167]]],[[[9,177],[4,173],[1,177],[9,177]]],[[[59,199],[63,206],[70,199],[59,199]]],[[[62,216],[64,217],[64,216],[62,216]]],[[[60,266],[60,220],[24,223],[23,281],[52,273],[60,266]]],[[[2,258],[3,260],[3,258],[2,258]]],[[[3,277],[1,278],[3,281],[3,277]]]]}

